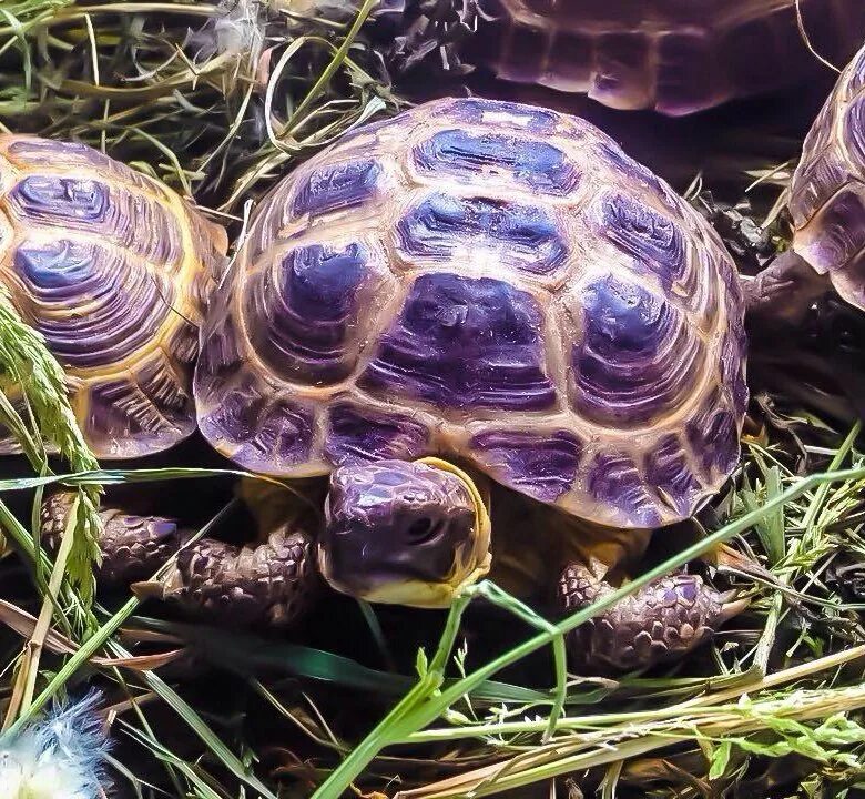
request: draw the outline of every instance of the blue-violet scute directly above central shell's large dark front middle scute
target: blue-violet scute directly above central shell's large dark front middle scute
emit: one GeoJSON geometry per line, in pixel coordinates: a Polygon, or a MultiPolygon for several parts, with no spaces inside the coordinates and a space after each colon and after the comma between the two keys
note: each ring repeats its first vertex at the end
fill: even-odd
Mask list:
{"type": "Polygon", "coordinates": [[[397,231],[399,247],[409,257],[447,261],[470,249],[474,260],[487,251],[491,263],[546,275],[568,255],[549,212],[507,200],[430,194],[399,221],[397,231]]]}

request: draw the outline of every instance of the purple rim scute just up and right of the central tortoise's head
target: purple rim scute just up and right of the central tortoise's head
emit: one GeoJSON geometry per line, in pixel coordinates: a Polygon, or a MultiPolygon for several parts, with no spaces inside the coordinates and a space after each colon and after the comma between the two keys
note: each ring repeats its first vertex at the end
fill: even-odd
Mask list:
{"type": "Polygon", "coordinates": [[[568,431],[486,431],[470,446],[499,482],[547,503],[571,489],[583,452],[583,442],[568,431]]]}

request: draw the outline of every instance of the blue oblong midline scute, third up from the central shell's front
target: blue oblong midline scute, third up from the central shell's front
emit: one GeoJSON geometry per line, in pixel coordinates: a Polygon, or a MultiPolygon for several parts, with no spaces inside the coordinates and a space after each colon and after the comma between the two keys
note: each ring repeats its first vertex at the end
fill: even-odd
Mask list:
{"type": "Polygon", "coordinates": [[[493,172],[509,175],[526,189],[553,195],[569,194],[580,174],[557,146],[507,133],[474,133],[445,130],[421,142],[414,151],[421,171],[474,180],[493,172]]]}

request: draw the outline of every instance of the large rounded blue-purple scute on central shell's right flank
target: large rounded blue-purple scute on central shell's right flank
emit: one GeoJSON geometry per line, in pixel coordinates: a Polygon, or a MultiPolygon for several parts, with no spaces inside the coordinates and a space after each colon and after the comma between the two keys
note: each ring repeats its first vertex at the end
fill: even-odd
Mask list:
{"type": "Polygon", "coordinates": [[[606,275],[581,286],[583,335],[572,348],[574,405],[599,424],[635,426],[678,407],[704,353],[682,314],[635,281],[606,275]]]}

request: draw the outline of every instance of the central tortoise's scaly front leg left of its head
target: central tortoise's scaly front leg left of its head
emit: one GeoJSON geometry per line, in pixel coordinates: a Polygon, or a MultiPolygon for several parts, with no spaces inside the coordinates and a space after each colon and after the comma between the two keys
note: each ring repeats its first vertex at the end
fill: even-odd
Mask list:
{"type": "MultiPolygon", "coordinates": [[[[58,492],[42,504],[42,534],[55,547],[65,529],[74,493],[58,492]]],[[[232,624],[288,625],[308,608],[318,580],[309,537],[285,522],[253,547],[212,538],[185,545],[192,533],[174,519],[100,510],[103,523],[96,573],[101,586],[129,586],[140,596],[169,599],[193,613],[232,624]],[[164,577],[154,573],[176,555],[164,577]]]]}

